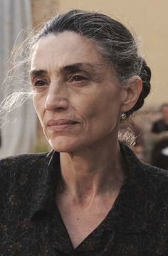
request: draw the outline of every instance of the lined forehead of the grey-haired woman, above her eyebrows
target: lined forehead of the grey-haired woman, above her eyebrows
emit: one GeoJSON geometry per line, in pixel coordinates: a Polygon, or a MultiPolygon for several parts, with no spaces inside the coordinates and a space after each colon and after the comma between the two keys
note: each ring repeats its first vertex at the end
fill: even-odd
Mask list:
{"type": "Polygon", "coordinates": [[[43,65],[61,67],[74,62],[101,65],[105,60],[95,42],[71,31],[45,36],[33,46],[31,69],[43,65]]]}

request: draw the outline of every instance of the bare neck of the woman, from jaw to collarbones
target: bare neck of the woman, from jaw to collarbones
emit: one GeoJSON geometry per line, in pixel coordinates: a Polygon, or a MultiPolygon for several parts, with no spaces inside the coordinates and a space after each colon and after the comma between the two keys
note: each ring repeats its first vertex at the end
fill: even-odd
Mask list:
{"type": "Polygon", "coordinates": [[[82,203],[96,195],[120,190],[124,172],[118,143],[87,148],[82,152],[61,153],[62,192],[82,203]]]}

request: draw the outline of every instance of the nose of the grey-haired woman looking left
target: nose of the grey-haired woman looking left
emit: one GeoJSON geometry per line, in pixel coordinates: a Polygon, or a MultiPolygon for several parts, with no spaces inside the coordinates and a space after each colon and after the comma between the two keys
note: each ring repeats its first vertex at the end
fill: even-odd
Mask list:
{"type": "Polygon", "coordinates": [[[48,88],[45,108],[48,111],[67,109],[69,105],[66,85],[52,82],[48,88]]]}

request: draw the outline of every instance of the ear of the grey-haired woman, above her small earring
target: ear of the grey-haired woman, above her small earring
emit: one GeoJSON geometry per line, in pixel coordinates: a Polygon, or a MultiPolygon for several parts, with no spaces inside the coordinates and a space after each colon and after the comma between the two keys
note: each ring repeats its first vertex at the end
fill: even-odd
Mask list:
{"type": "Polygon", "coordinates": [[[137,100],[142,91],[142,80],[140,76],[132,76],[127,81],[127,85],[122,88],[122,106],[121,111],[130,111],[137,103],[137,100]]]}

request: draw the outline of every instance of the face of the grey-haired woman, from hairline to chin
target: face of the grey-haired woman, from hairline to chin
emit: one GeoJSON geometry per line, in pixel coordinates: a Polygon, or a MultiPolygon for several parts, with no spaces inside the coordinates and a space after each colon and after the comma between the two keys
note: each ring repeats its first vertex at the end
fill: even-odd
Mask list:
{"type": "Polygon", "coordinates": [[[93,41],[70,31],[38,41],[31,83],[53,149],[74,152],[116,140],[122,88],[93,41]]]}

